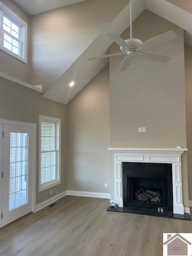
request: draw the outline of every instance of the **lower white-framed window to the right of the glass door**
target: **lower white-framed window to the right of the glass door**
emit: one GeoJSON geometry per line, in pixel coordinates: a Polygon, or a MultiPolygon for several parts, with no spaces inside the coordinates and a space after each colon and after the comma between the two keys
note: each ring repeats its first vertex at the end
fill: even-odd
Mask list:
{"type": "Polygon", "coordinates": [[[60,183],[60,120],[40,116],[40,190],[60,183]]]}

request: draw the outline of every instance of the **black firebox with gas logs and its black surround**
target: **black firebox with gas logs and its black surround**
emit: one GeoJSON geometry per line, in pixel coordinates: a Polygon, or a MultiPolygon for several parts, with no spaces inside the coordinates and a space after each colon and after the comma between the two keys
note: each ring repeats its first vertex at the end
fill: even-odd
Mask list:
{"type": "Polygon", "coordinates": [[[172,165],[123,162],[124,207],[173,212],[172,165]]]}

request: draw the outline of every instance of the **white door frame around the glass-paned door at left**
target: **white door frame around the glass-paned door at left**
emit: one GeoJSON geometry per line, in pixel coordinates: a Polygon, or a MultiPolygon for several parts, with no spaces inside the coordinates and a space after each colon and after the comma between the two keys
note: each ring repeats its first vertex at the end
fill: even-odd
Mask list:
{"type": "MultiPolygon", "coordinates": [[[[18,125],[18,126],[27,126],[31,127],[33,130],[33,153],[32,153],[32,212],[36,212],[36,124],[27,123],[27,122],[19,122],[12,120],[0,119],[0,124],[10,124],[10,125],[18,125]]],[[[2,159],[3,160],[3,159],[2,159]]],[[[3,170],[2,170],[3,172],[3,170]]],[[[2,174],[0,174],[0,182],[2,182],[2,174]]],[[[0,194],[2,191],[0,192],[0,194]]],[[[2,194],[1,194],[2,196],[2,194]]],[[[0,226],[1,227],[1,226],[0,226]]]]}

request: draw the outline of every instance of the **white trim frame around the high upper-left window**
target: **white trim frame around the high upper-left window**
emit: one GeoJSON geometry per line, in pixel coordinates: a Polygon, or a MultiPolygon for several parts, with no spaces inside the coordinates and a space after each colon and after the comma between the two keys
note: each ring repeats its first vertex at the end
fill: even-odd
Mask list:
{"type": "MultiPolygon", "coordinates": [[[[17,39],[18,40],[18,39],[17,39]]],[[[0,1],[0,50],[27,64],[27,23],[0,1]],[[3,14],[20,26],[20,56],[4,47],[3,14]]]]}

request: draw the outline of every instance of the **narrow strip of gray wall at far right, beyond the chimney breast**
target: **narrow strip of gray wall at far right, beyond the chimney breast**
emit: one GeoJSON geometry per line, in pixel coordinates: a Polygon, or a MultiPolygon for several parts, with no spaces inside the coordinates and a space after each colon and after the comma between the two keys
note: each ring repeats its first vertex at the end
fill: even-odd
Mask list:
{"type": "Polygon", "coordinates": [[[192,201],[192,47],[185,44],[186,131],[189,200],[192,201]]]}

